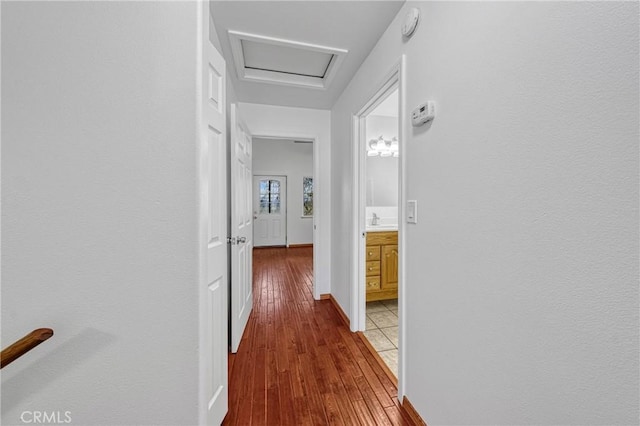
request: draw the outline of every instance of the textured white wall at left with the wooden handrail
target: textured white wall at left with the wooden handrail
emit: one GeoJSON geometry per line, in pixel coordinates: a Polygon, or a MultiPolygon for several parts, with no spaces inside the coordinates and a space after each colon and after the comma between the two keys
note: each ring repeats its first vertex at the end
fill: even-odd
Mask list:
{"type": "Polygon", "coordinates": [[[196,5],[1,7],[2,423],[196,424],[196,5]]]}

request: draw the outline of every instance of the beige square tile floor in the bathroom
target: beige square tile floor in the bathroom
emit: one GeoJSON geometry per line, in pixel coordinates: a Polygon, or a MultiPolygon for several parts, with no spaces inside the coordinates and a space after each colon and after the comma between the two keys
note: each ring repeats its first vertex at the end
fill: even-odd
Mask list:
{"type": "Polygon", "coordinates": [[[398,299],[367,302],[364,335],[398,376],[398,299]]]}

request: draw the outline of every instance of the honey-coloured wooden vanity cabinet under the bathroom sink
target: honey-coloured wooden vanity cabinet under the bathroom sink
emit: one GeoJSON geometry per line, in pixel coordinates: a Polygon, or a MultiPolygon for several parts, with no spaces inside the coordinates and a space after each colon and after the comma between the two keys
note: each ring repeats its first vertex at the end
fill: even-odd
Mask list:
{"type": "Polygon", "coordinates": [[[365,250],[367,302],[398,298],[398,232],[368,232],[365,250]]]}

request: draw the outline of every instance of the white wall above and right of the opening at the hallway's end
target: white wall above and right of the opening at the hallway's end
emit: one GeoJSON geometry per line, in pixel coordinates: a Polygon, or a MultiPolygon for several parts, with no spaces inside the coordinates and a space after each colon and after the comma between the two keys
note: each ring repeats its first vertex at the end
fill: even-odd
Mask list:
{"type": "MultiPolygon", "coordinates": [[[[242,113],[254,136],[313,137],[314,162],[319,176],[314,176],[315,295],[332,292],[331,288],[331,112],[328,110],[280,107],[240,103],[242,113]]],[[[342,238],[342,237],[341,237],[342,238]]]]}

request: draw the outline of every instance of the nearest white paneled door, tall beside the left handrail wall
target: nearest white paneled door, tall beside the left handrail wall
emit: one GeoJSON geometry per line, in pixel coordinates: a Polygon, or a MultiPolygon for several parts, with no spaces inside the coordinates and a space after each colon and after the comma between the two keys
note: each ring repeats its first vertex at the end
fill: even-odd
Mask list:
{"type": "Polygon", "coordinates": [[[200,424],[219,425],[229,389],[226,76],[209,41],[209,2],[199,7],[200,424]]]}

